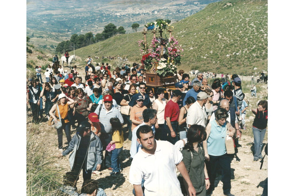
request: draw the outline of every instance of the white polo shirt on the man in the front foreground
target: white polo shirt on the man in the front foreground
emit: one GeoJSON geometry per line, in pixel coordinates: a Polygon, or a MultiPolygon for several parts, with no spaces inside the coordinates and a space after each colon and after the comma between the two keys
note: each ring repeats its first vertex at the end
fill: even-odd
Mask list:
{"type": "Polygon", "coordinates": [[[168,141],[156,141],[154,155],[139,148],[130,167],[129,182],[141,185],[144,179],[146,196],[183,195],[175,171],[175,165],[182,160],[182,153],[168,141]]]}

